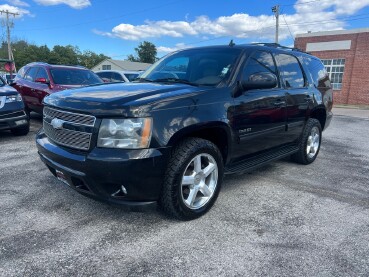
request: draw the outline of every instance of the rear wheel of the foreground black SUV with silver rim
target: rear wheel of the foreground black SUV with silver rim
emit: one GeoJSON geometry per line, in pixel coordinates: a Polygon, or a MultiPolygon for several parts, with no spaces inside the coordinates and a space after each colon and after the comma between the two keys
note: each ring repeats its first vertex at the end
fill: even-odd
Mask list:
{"type": "Polygon", "coordinates": [[[299,150],[292,155],[292,160],[300,164],[311,164],[319,154],[322,140],[322,127],[315,118],[309,118],[301,136],[299,150]]]}

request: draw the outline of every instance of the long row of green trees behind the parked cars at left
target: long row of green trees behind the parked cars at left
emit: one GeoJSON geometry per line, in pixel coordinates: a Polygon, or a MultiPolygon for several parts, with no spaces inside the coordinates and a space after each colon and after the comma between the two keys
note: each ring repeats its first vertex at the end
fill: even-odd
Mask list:
{"type": "MultiPolygon", "coordinates": [[[[96,54],[92,51],[83,51],[72,45],[55,45],[50,50],[46,45],[37,46],[24,40],[12,43],[13,55],[17,69],[31,62],[46,62],[50,64],[82,65],[92,68],[110,57],[96,54]]],[[[1,43],[0,58],[8,58],[6,42],[1,43]]]]}

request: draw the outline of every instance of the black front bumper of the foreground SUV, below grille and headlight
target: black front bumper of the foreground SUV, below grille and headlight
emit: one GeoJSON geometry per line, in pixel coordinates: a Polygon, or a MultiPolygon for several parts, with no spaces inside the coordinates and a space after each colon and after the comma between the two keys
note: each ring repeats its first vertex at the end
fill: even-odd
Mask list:
{"type": "Polygon", "coordinates": [[[73,151],[50,141],[42,129],[36,145],[51,173],[62,174],[70,187],[86,196],[128,206],[159,199],[169,148],[73,151]]]}

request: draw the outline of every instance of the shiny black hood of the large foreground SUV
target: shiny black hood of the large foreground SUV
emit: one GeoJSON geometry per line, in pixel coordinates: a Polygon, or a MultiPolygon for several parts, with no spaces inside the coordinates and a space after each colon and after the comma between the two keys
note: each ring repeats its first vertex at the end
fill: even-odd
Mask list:
{"type": "Polygon", "coordinates": [[[94,115],[127,114],[131,107],[185,98],[208,88],[186,84],[119,83],[64,90],[44,98],[46,105],[94,115]]]}

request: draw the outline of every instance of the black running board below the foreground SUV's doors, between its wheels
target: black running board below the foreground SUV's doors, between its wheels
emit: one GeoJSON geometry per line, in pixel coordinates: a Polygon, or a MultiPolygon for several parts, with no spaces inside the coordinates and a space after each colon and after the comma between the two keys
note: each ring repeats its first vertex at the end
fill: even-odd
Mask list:
{"type": "Polygon", "coordinates": [[[298,150],[299,148],[297,146],[284,146],[283,148],[279,148],[277,150],[271,150],[263,154],[259,154],[255,157],[246,159],[244,161],[226,166],[224,173],[233,174],[252,171],[272,161],[280,160],[284,157],[292,155],[293,153],[296,153],[298,150]]]}

